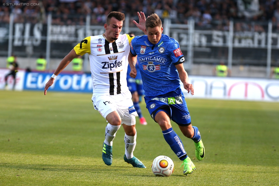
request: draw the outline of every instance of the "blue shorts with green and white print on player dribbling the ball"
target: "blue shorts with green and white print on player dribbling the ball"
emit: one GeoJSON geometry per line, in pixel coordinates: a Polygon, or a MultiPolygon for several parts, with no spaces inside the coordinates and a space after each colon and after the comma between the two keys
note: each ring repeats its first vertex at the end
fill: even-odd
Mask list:
{"type": "MultiPolygon", "coordinates": [[[[159,111],[164,111],[170,119],[180,126],[191,124],[191,116],[187,108],[185,97],[180,89],[158,96],[145,96],[146,108],[152,119],[159,111]]],[[[155,119],[154,119],[155,121],[155,119]]],[[[156,121],[155,121],[156,122],[156,121]]]]}

